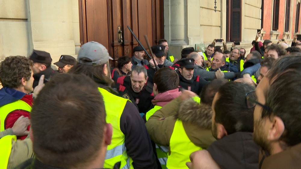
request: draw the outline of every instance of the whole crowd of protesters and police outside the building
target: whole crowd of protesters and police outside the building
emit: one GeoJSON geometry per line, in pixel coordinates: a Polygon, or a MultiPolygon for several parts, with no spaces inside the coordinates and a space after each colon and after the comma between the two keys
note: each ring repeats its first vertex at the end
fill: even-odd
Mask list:
{"type": "Polygon", "coordinates": [[[1,168],[296,168],[301,43],[217,39],[181,59],[161,39],[111,68],[107,49],[77,59],[33,50],[0,63],[1,168]]]}

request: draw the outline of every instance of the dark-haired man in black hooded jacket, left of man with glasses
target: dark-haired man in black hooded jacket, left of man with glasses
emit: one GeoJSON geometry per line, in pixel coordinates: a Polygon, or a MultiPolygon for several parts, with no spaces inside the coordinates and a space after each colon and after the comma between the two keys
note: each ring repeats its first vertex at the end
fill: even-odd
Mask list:
{"type": "Polygon", "coordinates": [[[212,103],[212,134],[217,141],[193,152],[186,163],[189,168],[258,168],[260,147],[252,140],[254,107],[249,108],[245,98],[254,90],[233,81],[219,88],[212,103]]]}

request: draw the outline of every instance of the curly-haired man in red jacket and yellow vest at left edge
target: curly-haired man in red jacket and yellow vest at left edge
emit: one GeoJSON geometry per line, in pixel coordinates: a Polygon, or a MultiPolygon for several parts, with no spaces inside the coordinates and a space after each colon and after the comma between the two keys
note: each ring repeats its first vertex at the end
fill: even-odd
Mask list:
{"type": "MultiPolygon", "coordinates": [[[[0,131],[13,127],[20,116],[28,117],[33,105],[33,61],[9,56],[0,63],[0,131]]],[[[29,125],[27,127],[29,131],[29,125]]],[[[28,134],[28,133],[27,133],[28,134]]],[[[25,139],[26,135],[17,137],[25,139]]]]}

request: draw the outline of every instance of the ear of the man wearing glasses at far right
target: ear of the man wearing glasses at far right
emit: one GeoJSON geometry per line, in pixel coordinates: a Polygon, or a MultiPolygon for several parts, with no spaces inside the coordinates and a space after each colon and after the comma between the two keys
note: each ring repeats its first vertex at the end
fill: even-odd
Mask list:
{"type": "Polygon", "coordinates": [[[277,116],[272,117],[272,119],[267,119],[267,122],[269,125],[268,140],[279,140],[285,129],[284,122],[277,116]]]}

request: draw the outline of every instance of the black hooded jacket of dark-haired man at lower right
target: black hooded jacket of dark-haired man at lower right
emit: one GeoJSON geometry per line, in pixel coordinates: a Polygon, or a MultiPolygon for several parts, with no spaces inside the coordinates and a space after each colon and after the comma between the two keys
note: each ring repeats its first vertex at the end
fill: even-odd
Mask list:
{"type": "Polygon", "coordinates": [[[221,168],[258,168],[260,147],[250,132],[236,132],[213,142],[207,149],[221,168]]]}

